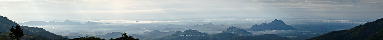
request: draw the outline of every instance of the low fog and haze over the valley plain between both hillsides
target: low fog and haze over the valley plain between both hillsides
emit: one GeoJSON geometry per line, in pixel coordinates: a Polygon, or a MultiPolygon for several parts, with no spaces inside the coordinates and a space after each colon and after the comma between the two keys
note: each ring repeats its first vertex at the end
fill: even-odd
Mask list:
{"type": "MultiPolygon", "coordinates": [[[[110,32],[127,32],[128,34],[142,34],[146,31],[159,30],[168,28],[184,28],[193,29],[209,34],[217,34],[225,31],[228,27],[248,29],[251,26],[264,22],[272,22],[278,19],[285,22],[287,25],[293,26],[296,30],[275,30],[275,31],[250,31],[254,35],[262,34],[277,34],[283,37],[294,37],[288,34],[324,34],[326,32],[350,29],[354,26],[371,22],[373,20],[327,20],[327,19],[296,19],[296,18],[205,18],[205,19],[68,19],[73,22],[82,24],[91,21],[103,23],[100,25],[25,25],[31,27],[44,28],[49,32],[57,35],[67,35],[69,33],[80,33],[84,35],[104,35],[110,32]],[[153,20],[153,21],[152,21],[153,20]],[[136,22],[138,21],[138,22],[136,22]],[[111,23],[111,24],[105,24],[111,23]],[[214,25],[225,25],[221,27],[193,27],[194,25],[203,25],[213,23],[214,25]],[[308,26],[311,25],[311,26],[308,26]],[[331,25],[331,26],[329,26],[331,25]]],[[[25,23],[29,21],[55,21],[64,22],[65,20],[15,20],[16,23],[25,23]]],[[[173,30],[185,31],[185,30],[173,30]]],[[[165,31],[168,32],[168,31],[165,31]]],[[[295,36],[296,37],[296,36],[295,36]]]]}

